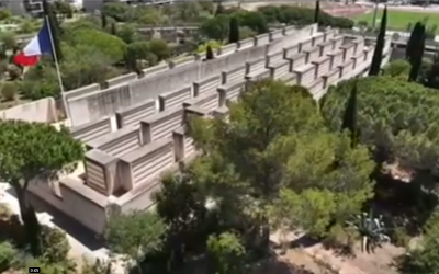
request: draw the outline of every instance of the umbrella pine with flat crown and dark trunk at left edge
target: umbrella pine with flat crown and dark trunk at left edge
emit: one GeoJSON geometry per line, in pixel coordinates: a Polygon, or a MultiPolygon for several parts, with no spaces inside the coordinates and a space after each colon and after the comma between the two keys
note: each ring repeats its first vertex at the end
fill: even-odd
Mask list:
{"type": "Polygon", "coordinates": [[[0,151],[0,176],[15,191],[26,241],[32,253],[41,255],[42,229],[27,197],[27,186],[34,180],[49,180],[60,170],[74,168],[83,158],[82,144],[66,128],[57,130],[47,124],[1,121],[0,151]]]}

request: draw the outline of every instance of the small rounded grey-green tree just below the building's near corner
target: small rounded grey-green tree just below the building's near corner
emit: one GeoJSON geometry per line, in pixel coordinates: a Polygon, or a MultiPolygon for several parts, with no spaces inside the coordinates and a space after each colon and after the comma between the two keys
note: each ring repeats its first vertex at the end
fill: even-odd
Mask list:
{"type": "Polygon", "coordinates": [[[112,252],[125,254],[126,261],[135,260],[142,274],[143,259],[161,247],[165,232],[165,224],[155,213],[131,212],[110,216],[105,239],[112,252]]]}

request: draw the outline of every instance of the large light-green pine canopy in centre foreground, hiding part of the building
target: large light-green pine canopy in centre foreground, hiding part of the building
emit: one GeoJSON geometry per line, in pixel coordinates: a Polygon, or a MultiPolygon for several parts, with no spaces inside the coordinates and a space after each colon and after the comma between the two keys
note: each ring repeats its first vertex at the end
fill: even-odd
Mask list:
{"type": "Polygon", "coordinates": [[[190,133],[204,151],[193,164],[194,180],[210,190],[218,207],[240,208],[258,219],[262,241],[269,224],[284,224],[272,215],[281,190],[293,193],[290,207],[303,217],[295,225],[318,237],[328,233],[334,220],[342,224],[358,213],[372,195],[374,163],[368,148],[352,148],[348,135],[325,128],[302,87],[258,82],[232,103],[227,122],[195,118],[190,133]],[[324,217],[317,201],[316,215],[308,214],[311,197],[334,204],[325,208],[324,225],[316,222],[316,216],[324,217]]]}

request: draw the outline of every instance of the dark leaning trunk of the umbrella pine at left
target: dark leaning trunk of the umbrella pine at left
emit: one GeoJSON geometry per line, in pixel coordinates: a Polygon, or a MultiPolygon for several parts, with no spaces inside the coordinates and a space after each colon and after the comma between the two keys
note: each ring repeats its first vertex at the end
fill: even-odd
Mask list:
{"type": "Polygon", "coordinates": [[[13,189],[19,199],[21,219],[24,228],[25,243],[29,244],[31,253],[34,256],[42,254],[42,238],[41,238],[41,226],[36,217],[35,208],[31,205],[27,199],[26,190],[13,185],[13,189]]]}

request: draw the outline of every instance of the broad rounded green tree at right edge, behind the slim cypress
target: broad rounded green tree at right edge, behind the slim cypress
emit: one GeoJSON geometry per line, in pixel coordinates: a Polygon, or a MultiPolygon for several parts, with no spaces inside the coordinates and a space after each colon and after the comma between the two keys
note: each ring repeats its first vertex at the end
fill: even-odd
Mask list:
{"type": "MultiPolygon", "coordinates": [[[[346,101],[358,81],[358,127],[360,139],[373,148],[381,161],[435,174],[439,95],[406,79],[370,77],[350,80],[330,89],[323,106],[330,127],[338,130],[346,101]],[[421,100],[421,101],[420,101],[421,100]],[[389,111],[392,110],[392,111],[389,111]]],[[[420,182],[425,183],[425,182],[420,182]]]]}

